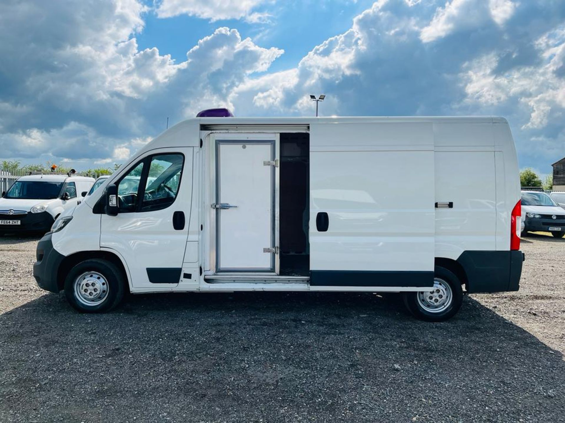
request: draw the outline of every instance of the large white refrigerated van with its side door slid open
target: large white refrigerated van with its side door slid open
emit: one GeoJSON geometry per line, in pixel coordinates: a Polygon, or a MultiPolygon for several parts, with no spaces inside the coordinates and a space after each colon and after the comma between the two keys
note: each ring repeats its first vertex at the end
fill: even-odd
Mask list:
{"type": "Polygon", "coordinates": [[[33,272],[86,312],[126,290],[403,292],[444,320],[462,285],[518,290],[519,235],[503,118],[201,117],[62,215],[33,272]]]}

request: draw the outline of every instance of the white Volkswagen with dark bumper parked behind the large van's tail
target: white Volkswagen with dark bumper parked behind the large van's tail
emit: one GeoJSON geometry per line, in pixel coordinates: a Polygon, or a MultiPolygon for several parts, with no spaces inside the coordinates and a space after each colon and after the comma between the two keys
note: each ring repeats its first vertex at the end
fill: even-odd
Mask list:
{"type": "Polygon", "coordinates": [[[565,210],[545,192],[522,191],[523,234],[528,231],[551,232],[556,238],[565,236],[565,210]]]}

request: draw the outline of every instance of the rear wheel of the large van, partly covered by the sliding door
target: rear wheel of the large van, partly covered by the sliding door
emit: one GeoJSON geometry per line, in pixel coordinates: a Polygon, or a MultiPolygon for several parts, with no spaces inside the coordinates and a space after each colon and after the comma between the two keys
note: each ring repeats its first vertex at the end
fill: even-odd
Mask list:
{"type": "Polygon", "coordinates": [[[404,293],[404,303],[416,319],[444,321],[459,311],[463,303],[463,288],[459,278],[445,267],[436,266],[434,284],[433,290],[404,293]]]}

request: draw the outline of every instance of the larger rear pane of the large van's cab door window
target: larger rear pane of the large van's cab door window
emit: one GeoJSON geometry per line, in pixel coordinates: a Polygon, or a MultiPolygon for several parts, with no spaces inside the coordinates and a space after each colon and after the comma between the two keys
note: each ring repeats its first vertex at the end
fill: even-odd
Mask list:
{"type": "Polygon", "coordinates": [[[183,162],[181,154],[151,157],[141,211],[160,210],[173,204],[179,192],[183,162]]]}

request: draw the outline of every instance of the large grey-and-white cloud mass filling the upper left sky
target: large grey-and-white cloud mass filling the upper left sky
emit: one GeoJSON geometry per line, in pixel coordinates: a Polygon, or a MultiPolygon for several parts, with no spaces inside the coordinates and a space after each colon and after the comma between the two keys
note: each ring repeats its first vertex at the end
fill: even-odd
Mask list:
{"type": "Polygon", "coordinates": [[[138,49],[146,12],[135,0],[0,4],[0,55],[10,57],[0,65],[0,155],[121,160],[116,144],[134,139],[123,146],[133,151],[164,130],[167,117],[173,124],[199,108],[230,105],[234,87],[282,54],[219,28],[176,64],[156,48],[138,49]],[[30,38],[29,21],[38,21],[41,37],[30,38]],[[79,143],[63,134],[77,125],[89,142],[74,151],[79,143]],[[40,148],[20,148],[33,140],[40,148]]]}

